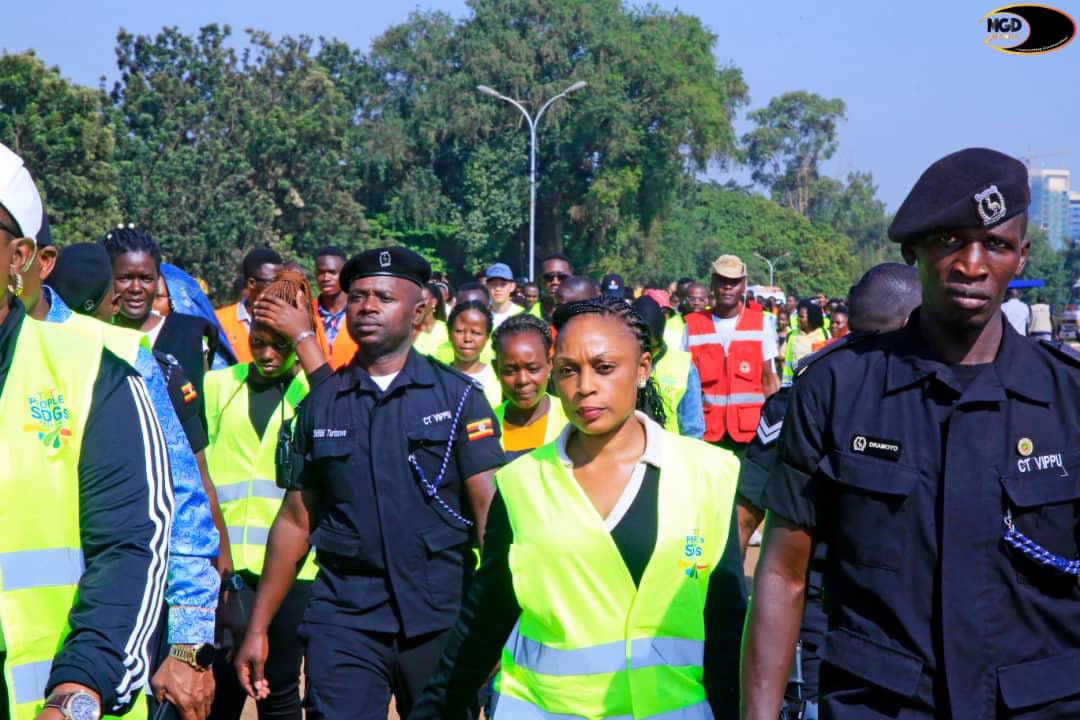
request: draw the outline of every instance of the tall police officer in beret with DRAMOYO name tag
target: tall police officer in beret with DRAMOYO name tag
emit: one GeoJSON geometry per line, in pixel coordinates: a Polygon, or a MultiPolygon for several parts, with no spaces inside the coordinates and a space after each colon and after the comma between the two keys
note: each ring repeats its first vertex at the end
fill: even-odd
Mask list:
{"type": "Polygon", "coordinates": [[[999,152],[931,165],[889,228],[921,308],[796,383],[762,499],[744,718],[777,717],[814,538],[823,718],[1080,717],[1080,357],[1001,314],[1028,202],[999,152]]]}

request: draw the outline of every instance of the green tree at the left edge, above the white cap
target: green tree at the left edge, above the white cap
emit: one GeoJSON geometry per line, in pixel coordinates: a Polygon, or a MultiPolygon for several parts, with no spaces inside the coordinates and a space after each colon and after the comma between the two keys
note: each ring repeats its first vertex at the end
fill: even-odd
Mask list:
{"type": "Polygon", "coordinates": [[[96,240],[120,220],[112,113],[32,52],[0,56],[0,142],[23,158],[58,244],[96,240]]]}

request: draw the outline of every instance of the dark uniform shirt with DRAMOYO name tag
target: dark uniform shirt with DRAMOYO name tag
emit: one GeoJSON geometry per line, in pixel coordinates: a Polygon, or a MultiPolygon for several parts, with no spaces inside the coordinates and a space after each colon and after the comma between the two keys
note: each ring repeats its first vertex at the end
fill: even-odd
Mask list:
{"type": "Polygon", "coordinates": [[[828,544],[823,711],[1080,717],[1077,576],[1004,542],[1008,512],[1080,556],[1080,362],[1002,320],[993,363],[949,366],[918,326],[809,366],[762,498],[828,544]]]}

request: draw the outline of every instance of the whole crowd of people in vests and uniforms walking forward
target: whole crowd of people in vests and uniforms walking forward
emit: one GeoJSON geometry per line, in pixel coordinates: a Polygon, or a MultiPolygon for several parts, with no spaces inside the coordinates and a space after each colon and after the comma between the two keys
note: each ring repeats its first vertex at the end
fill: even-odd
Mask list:
{"type": "Polygon", "coordinates": [[[215,310],[0,146],[4,717],[1080,716],[1027,193],[943,158],[845,298],[259,247],[215,310]]]}

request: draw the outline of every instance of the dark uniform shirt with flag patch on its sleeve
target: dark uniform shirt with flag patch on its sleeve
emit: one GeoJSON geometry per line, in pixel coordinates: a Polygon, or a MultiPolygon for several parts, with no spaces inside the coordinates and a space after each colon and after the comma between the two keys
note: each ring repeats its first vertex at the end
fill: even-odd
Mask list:
{"type": "Polygon", "coordinates": [[[305,399],[293,457],[292,488],[320,498],[306,620],[407,637],[449,627],[474,535],[463,481],[503,462],[484,393],[415,351],[386,392],[352,364],[305,399]],[[444,459],[432,497],[420,472],[434,484],[444,459]]]}

